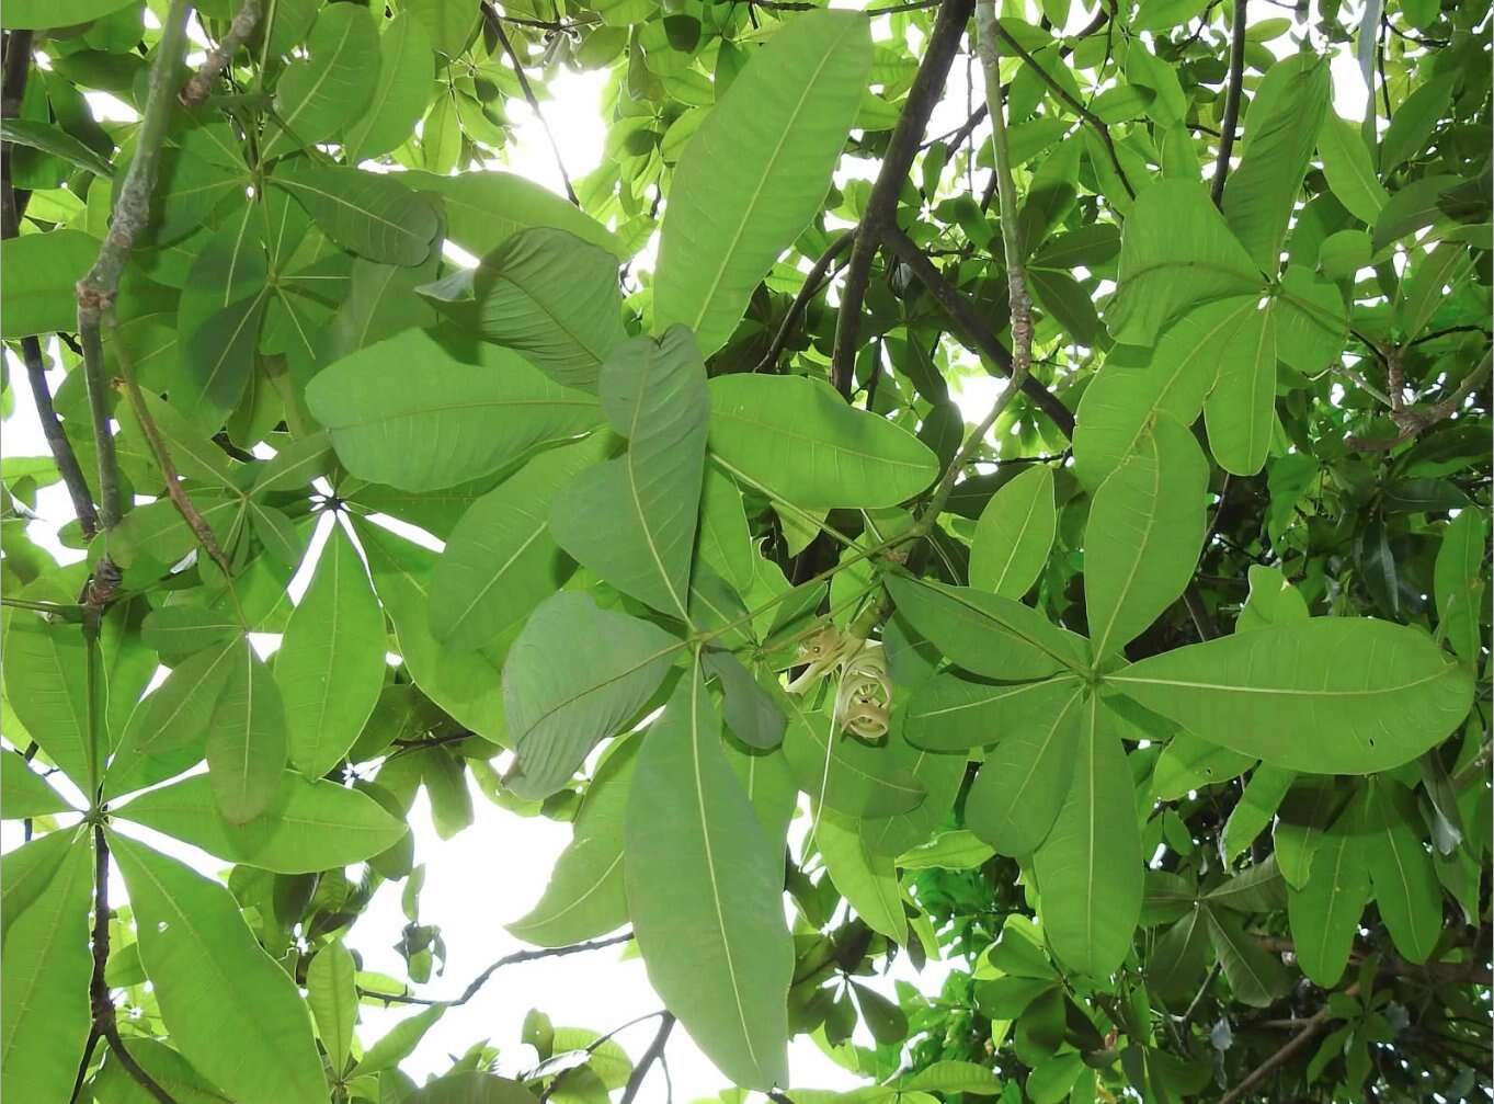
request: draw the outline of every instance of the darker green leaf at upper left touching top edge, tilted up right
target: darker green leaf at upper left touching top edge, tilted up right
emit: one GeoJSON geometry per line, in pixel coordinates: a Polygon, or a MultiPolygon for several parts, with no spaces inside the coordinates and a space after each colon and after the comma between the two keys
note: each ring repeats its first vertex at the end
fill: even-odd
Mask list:
{"type": "Polygon", "coordinates": [[[275,85],[275,117],[263,157],[272,158],[336,134],[369,106],[379,76],[374,16],[357,4],[327,4],[297,58],[275,85]]]}

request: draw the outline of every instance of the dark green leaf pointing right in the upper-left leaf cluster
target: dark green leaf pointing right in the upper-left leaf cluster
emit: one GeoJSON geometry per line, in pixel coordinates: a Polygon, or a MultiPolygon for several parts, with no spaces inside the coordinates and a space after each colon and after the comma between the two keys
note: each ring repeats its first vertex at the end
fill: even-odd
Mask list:
{"type": "Polygon", "coordinates": [[[435,209],[394,176],[294,160],[278,164],[269,182],[290,193],[327,238],[360,257],[409,266],[435,248],[435,209]]]}

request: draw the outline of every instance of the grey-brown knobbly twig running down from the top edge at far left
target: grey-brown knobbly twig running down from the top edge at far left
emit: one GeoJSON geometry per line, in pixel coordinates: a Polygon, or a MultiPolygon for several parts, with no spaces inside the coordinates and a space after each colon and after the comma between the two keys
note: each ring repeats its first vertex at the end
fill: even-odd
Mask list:
{"type": "Polygon", "coordinates": [[[78,281],[78,335],[84,345],[84,378],[88,382],[94,447],[99,453],[99,520],[106,530],[120,523],[121,506],[120,465],[114,450],[114,432],[109,429],[109,388],[105,382],[100,326],[105,312],[114,305],[120,275],[130,260],[134,239],[151,218],[155,170],[176,100],[176,72],[187,51],[188,15],[191,4],[187,0],[172,0],[161,25],[161,40],[155,46],[155,60],[151,63],[149,91],[145,97],[140,128],[136,131],[134,157],[120,185],[114,218],[103,245],[99,246],[99,258],[78,281]]]}

